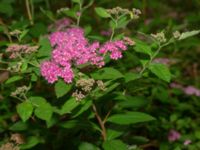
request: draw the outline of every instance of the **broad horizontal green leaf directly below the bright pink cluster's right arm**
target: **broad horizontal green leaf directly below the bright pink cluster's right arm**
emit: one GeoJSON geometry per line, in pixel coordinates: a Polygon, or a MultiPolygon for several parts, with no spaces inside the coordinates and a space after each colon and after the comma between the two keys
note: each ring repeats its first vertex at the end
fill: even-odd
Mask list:
{"type": "Polygon", "coordinates": [[[91,75],[94,79],[118,79],[123,78],[124,75],[114,68],[103,68],[91,75]]]}

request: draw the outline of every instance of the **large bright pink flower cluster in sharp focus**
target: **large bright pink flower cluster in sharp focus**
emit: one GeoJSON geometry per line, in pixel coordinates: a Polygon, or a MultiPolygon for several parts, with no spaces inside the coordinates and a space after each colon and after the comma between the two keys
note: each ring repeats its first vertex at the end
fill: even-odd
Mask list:
{"type": "Polygon", "coordinates": [[[49,40],[54,47],[52,59],[41,64],[41,74],[49,83],[54,83],[59,77],[71,83],[74,78],[72,65],[92,64],[102,67],[107,53],[111,59],[117,60],[122,57],[122,51],[127,49],[122,40],[109,41],[103,45],[99,42],[90,44],[81,28],[54,32],[49,40]]]}

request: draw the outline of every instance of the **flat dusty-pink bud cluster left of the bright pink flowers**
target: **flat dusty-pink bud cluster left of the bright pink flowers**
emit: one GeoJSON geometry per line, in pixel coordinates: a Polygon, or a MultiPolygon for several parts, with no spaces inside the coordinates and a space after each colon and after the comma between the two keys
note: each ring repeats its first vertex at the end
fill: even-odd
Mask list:
{"type": "Polygon", "coordinates": [[[29,46],[29,45],[19,45],[19,44],[11,44],[6,49],[6,52],[10,53],[10,58],[14,59],[23,54],[31,54],[36,52],[38,46],[29,46]]]}

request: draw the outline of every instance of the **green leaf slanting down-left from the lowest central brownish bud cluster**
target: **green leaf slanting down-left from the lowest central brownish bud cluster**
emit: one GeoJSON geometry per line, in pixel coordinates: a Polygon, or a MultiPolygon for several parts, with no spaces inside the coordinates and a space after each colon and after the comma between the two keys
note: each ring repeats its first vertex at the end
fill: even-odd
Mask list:
{"type": "Polygon", "coordinates": [[[71,98],[65,102],[65,104],[62,106],[60,113],[66,114],[71,113],[71,111],[76,108],[80,103],[77,102],[74,98],[71,98]]]}

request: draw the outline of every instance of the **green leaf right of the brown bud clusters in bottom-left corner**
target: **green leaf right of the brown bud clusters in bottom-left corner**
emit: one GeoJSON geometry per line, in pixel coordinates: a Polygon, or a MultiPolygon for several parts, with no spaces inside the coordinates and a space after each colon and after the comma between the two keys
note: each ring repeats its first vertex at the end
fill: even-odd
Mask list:
{"type": "Polygon", "coordinates": [[[30,149],[30,148],[36,146],[37,144],[39,144],[40,142],[41,142],[41,140],[36,136],[28,137],[28,139],[26,139],[26,143],[20,145],[20,150],[30,149]]]}

